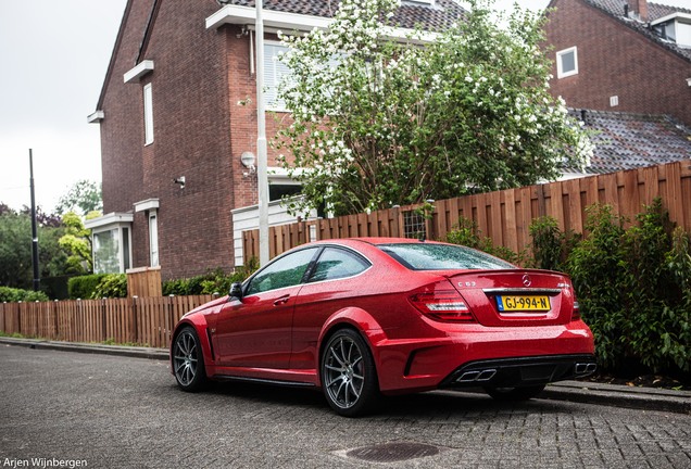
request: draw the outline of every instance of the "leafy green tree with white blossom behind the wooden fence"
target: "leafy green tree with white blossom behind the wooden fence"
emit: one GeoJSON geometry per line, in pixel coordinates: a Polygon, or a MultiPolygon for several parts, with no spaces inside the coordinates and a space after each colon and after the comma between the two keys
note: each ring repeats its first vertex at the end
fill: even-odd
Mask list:
{"type": "Polygon", "coordinates": [[[337,215],[554,179],[592,152],[549,93],[542,18],[517,10],[504,28],[492,0],[419,46],[392,37],[397,0],[342,0],[325,30],[284,36],[291,113],[275,145],[303,185],[293,212],[337,215]],[[302,170],[302,168],[307,168],[302,170]]]}

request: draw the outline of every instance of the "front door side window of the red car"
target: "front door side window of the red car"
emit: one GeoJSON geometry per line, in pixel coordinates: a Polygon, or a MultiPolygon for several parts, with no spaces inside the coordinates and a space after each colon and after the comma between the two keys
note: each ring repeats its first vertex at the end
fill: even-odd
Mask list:
{"type": "Polygon", "coordinates": [[[316,251],[316,248],[298,251],[269,264],[254,276],[244,294],[262,293],[300,283],[316,251]]]}

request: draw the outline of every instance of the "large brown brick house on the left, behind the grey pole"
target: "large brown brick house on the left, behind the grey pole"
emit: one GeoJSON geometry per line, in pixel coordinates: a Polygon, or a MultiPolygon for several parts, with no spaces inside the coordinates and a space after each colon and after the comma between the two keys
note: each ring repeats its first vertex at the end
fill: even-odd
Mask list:
{"type": "MultiPolygon", "coordinates": [[[[285,73],[271,60],[276,30],[325,27],[337,5],[264,1],[269,110],[280,112],[271,89],[285,73]]],[[[462,13],[454,0],[406,0],[394,33],[442,28],[462,13]]],[[[160,266],[166,279],[235,266],[231,212],[257,201],[254,17],[249,0],[127,2],[88,118],[101,130],[105,214],[86,224],[96,271],[160,266]]],[[[275,135],[271,115],[266,124],[275,135]]],[[[272,200],[299,190],[271,150],[268,166],[272,200]]]]}

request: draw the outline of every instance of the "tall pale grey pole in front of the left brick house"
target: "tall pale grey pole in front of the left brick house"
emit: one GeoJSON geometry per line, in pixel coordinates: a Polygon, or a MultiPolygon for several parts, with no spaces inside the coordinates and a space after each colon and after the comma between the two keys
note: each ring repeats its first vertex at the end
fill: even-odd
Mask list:
{"type": "Polygon", "coordinates": [[[268,175],[266,156],[266,118],[264,115],[264,18],[263,1],[256,0],[256,178],[260,212],[260,265],[268,263],[268,175]]]}

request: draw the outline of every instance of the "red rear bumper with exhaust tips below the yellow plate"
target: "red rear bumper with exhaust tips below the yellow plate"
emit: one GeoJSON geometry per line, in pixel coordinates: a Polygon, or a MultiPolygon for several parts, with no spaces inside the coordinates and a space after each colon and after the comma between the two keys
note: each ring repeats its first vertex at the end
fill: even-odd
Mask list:
{"type": "Polygon", "coordinates": [[[539,328],[468,326],[429,339],[373,341],[385,394],[451,386],[543,384],[594,371],[582,321],[539,328]]]}

